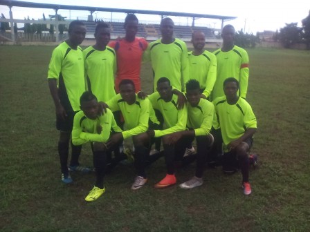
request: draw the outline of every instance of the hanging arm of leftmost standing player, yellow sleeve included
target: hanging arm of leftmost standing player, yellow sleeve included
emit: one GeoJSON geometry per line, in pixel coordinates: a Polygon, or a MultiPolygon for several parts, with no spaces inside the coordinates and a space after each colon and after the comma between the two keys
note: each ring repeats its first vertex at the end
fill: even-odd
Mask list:
{"type": "Polygon", "coordinates": [[[66,117],[66,110],[60,103],[58,95],[57,81],[62,70],[62,52],[60,50],[53,50],[50,64],[48,65],[48,88],[54,101],[57,117],[64,119],[66,117]]]}

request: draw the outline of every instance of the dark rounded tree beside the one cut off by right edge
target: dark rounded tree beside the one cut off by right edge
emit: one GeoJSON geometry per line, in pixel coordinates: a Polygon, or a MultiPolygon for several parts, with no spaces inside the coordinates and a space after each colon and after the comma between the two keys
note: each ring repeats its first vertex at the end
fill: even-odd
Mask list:
{"type": "Polygon", "coordinates": [[[302,39],[302,29],[298,28],[297,23],[285,23],[286,26],[280,29],[280,41],[284,48],[291,48],[295,43],[302,39]]]}

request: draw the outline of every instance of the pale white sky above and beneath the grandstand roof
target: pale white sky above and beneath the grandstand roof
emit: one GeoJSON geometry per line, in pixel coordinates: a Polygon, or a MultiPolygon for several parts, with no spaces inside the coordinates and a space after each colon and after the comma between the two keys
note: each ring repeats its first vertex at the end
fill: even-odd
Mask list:
{"type": "MultiPolygon", "coordinates": [[[[302,26],[302,19],[308,16],[310,10],[310,1],[295,0],[291,1],[251,1],[251,0],[204,0],[204,1],[183,1],[183,0],[156,0],[156,1],[137,1],[137,0],[53,0],[42,1],[32,0],[29,2],[53,3],[75,6],[97,6],[102,8],[124,8],[138,10],[163,10],[168,12],[186,12],[197,14],[215,14],[237,17],[237,19],[225,21],[224,25],[232,24],[236,30],[256,34],[264,30],[280,30],[286,26],[285,23],[298,23],[302,26]]],[[[0,13],[9,18],[7,6],[0,6],[0,13]]],[[[34,8],[12,8],[15,19],[24,19],[30,17],[33,19],[42,19],[44,13],[46,18],[48,14],[55,14],[54,10],[34,9],[34,8]]],[[[88,11],[80,10],[59,10],[58,14],[67,17],[67,19],[87,19],[88,11]]],[[[122,21],[125,19],[125,13],[113,13],[113,21],[122,21]]],[[[158,23],[161,17],[158,15],[137,14],[139,21],[154,21],[158,23]]],[[[111,12],[94,12],[93,19],[103,19],[109,21],[111,12]]],[[[174,22],[183,25],[191,25],[192,19],[186,17],[172,17],[174,22]]],[[[195,21],[197,26],[208,26],[210,28],[221,28],[219,19],[198,19],[195,21]]]]}

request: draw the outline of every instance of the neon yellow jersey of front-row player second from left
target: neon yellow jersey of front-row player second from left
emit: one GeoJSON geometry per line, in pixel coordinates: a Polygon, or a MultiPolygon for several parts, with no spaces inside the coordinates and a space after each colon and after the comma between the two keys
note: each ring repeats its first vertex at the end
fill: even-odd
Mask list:
{"type": "Polygon", "coordinates": [[[138,95],[136,95],[136,102],[129,105],[118,94],[107,101],[107,105],[113,112],[117,110],[122,112],[126,130],[122,131],[124,139],[147,131],[149,127],[149,99],[139,99],[138,95]]]}

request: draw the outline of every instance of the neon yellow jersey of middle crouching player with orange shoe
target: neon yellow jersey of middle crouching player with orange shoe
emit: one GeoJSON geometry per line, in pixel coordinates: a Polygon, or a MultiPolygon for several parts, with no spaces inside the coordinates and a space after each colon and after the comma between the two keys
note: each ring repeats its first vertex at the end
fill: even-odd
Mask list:
{"type": "Polygon", "coordinates": [[[155,137],[169,135],[176,131],[185,131],[188,120],[188,110],[186,107],[179,109],[176,106],[177,95],[173,95],[171,101],[164,101],[158,92],[149,95],[149,101],[154,109],[159,110],[163,115],[163,130],[155,130],[155,137]]]}

